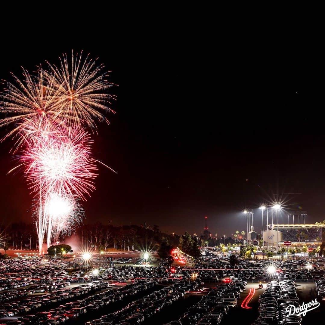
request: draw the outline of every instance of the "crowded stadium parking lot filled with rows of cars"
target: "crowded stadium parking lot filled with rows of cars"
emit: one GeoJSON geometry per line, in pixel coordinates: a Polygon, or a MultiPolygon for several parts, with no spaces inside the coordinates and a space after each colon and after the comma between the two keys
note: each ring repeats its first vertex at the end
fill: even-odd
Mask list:
{"type": "MultiPolygon", "coordinates": [[[[96,262],[95,262],[96,264],[96,262]]],[[[321,306],[292,324],[320,321],[322,264],[211,256],[193,266],[123,265],[87,272],[76,261],[2,260],[1,324],[287,324],[285,308],[321,306]],[[263,288],[259,288],[259,284],[263,288]]],[[[324,279],[324,282],[322,282],[324,279]]],[[[288,324],[289,325],[289,324],[288,324]]]]}

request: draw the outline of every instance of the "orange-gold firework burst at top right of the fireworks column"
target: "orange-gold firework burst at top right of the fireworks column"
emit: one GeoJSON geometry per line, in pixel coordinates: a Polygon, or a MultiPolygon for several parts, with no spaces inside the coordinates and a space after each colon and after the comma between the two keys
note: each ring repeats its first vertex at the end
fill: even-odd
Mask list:
{"type": "Polygon", "coordinates": [[[96,128],[96,121],[108,122],[105,114],[115,113],[110,105],[116,96],[108,94],[114,84],[107,80],[108,72],[102,72],[103,65],[89,55],[83,60],[82,54],[74,56],[72,52],[70,62],[65,54],[59,67],[50,63],[48,66],[45,77],[58,98],[62,120],[68,125],[86,124],[92,129],[96,128]]]}

